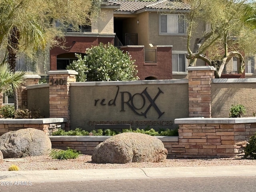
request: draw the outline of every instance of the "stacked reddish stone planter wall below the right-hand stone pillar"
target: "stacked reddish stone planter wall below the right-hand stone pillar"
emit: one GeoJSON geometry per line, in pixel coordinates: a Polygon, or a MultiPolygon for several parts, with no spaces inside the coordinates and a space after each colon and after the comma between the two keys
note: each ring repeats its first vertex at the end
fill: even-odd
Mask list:
{"type": "Polygon", "coordinates": [[[180,124],[176,157],[234,157],[256,132],[256,124],[180,124]]]}

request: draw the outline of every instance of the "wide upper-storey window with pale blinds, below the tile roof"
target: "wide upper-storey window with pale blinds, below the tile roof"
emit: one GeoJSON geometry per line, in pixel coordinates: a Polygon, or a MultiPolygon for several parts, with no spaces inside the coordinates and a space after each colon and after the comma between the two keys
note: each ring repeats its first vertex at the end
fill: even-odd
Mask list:
{"type": "Polygon", "coordinates": [[[184,34],[185,33],[185,16],[184,15],[160,15],[161,33],[184,34]]]}

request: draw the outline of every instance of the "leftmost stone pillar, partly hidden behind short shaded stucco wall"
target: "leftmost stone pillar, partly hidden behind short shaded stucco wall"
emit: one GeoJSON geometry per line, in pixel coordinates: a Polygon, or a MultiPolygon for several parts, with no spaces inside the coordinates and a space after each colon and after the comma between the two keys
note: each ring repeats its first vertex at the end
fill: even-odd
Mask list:
{"type": "Polygon", "coordinates": [[[40,78],[41,76],[36,74],[26,75],[25,83],[17,90],[19,107],[23,107],[23,108],[28,107],[28,90],[26,89],[26,86],[37,85],[38,80],[40,78]]]}

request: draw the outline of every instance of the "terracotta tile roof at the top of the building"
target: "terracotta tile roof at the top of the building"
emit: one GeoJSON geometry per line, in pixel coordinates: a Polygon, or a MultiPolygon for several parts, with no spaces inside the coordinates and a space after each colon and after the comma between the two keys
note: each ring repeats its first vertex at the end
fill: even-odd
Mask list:
{"type": "Polygon", "coordinates": [[[173,2],[170,0],[159,1],[133,1],[116,0],[112,1],[120,4],[120,8],[115,11],[136,12],[144,8],[165,9],[165,10],[190,10],[190,5],[183,2],[173,2]]]}

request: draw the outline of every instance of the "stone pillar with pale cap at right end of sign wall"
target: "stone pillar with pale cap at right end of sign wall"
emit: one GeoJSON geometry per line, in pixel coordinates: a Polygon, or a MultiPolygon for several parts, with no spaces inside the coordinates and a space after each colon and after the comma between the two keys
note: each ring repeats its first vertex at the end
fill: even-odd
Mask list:
{"type": "Polygon", "coordinates": [[[211,84],[213,66],[188,67],[189,117],[211,118],[211,84]]]}

